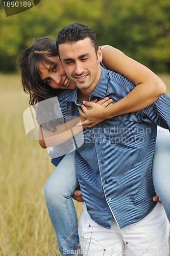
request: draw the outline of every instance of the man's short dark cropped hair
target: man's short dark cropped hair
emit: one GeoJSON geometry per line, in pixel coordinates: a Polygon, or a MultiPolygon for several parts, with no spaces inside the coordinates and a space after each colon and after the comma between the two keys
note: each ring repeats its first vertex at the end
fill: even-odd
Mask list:
{"type": "Polygon", "coordinates": [[[56,40],[56,46],[58,51],[58,46],[64,44],[65,42],[79,41],[85,38],[90,38],[94,46],[95,53],[97,54],[99,46],[96,40],[96,35],[94,31],[88,26],[82,23],[71,23],[63,27],[58,34],[56,40]]]}

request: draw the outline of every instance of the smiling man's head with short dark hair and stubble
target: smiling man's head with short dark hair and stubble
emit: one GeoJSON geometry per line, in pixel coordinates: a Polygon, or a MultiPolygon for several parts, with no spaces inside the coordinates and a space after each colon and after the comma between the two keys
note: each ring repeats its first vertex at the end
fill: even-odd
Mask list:
{"type": "Polygon", "coordinates": [[[86,25],[72,23],[58,35],[57,49],[68,78],[80,90],[92,92],[101,75],[102,50],[95,33],[86,25]]]}

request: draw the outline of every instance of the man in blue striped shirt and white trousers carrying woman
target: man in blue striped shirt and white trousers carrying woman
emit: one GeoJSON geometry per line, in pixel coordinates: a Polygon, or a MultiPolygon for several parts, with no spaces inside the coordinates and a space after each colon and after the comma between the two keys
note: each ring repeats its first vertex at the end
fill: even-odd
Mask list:
{"type": "MultiPolygon", "coordinates": [[[[82,100],[108,96],[114,103],[134,88],[125,77],[101,68],[102,50],[89,27],[62,28],[57,48],[77,86],[59,97],[65,116],[78,115],[82,100]]],[[[76,151],[85,202],[79,224],[83,255],[168,255],[169,224],[163,206],[152,200],[152,158],[156,124],[170,127],[169,102],[163,95],[142,111],[84,130],[85,142],[76,151]]]]}

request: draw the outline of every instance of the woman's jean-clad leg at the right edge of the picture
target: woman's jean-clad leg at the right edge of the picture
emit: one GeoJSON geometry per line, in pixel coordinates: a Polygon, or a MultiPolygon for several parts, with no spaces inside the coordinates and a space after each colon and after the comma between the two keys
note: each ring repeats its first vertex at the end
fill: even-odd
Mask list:
{"type": "Polygon", "coordinates": [[[153,182],[170,222],[170,136],[158,133],[153,159],[153,182]]]}

